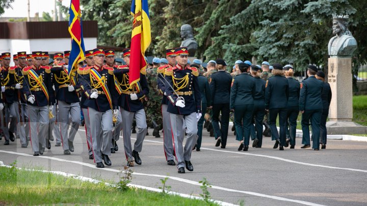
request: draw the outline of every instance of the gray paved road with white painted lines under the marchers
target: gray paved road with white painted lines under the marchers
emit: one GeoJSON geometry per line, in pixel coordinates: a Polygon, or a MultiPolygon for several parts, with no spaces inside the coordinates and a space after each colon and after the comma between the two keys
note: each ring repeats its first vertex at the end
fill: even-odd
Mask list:
{"type": "MultiPolygon", "coordinates": [[[[149,130],[151,133],[152,130],[149,130]]],[[[230,132],[232,134],[232,132],[230,132]]],[[[162,136],[162,135],[161,135],[162,136]]],[[[132,137],[135,138],[135,135],[132,137]]],[[[147,136],[140,154],[143,164],[133,167],[132,184],[158,188],[164,175],[172,191],[199,195],[203,178],[213,186],[213,199],[245,205],[366,205],[367,142],[328,140],[327,150],[274,150],[270,138],[264,137],[262,149],[237,151],[238,142],[228,137],[226,149],[216,148],[205,131],[200,152],[193,151],[194,171],[178,174],[175,166],[166,164],[163,138],[147,136]]],[[[118,171],[126,164],[122,140],[119,151],[111,156],[113,166],[95,168],[88,159],[85,131],[75,137],[75,152],[63,155],[61,147],[33,157],[31,146],[20,148],[19,139],[11,145],[0,141],[0,161],[17,166],[64,171],[89,178],[117,182],[118,171]]]]}

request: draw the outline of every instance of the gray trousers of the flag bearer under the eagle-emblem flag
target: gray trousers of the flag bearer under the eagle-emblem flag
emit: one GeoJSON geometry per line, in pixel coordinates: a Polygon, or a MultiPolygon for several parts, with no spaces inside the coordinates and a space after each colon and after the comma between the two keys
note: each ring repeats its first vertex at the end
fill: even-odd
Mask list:
{"type": "Polygon", "coordinates": [[[140,109],[136,112],[129,112],[121,108],[122,116],[122,136],[124,142],[124,150],[127,161],[133,161],[133,150],[131,145],[131,128],[133,126],[133,120],[137,123],[137,140],[134,143],[134,150],[140,153],[143,148],[143,141],[147,132],[146,116],[144,109],[140,109]]]}

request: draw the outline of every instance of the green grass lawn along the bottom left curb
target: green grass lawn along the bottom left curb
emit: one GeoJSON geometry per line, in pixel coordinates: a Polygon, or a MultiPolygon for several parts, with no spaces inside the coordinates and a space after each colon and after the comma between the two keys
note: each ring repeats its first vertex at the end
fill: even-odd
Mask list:
{"type": "Polygon", "coordinates": [[[0,205],[208,205],[203,200],[141,189],[122,191],[104,183],[15,167],[0,167],[0,184],[0,205]]]}

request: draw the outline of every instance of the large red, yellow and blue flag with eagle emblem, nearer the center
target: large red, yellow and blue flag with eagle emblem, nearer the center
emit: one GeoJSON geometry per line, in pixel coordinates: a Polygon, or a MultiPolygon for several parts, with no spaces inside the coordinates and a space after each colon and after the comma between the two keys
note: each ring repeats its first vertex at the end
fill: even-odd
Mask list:
{"type": "Polygon", "coordinates": [[[140,70],[147,66],[144,53],[151,41],[148,0],[133,0],[131,14],[134,20],[130,45],[129,82],[130,88],[133,88],[133,85],[140,80],[140,70]]]}

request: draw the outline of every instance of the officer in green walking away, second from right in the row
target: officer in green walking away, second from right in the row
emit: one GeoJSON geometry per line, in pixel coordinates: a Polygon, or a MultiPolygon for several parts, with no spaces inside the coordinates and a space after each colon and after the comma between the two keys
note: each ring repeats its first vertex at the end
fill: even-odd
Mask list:
{"type": "MultiPolygon", "coordinates": [[[[274,67],[275,69],[275,67],[274,67]]],[[[300,111],[302,113],[302,149],[310,147],[309,122],[312,127],[312,149],[320,149],[320,121],[323,112],[322,93],[324,82],[317,79],[315,75],[318,69],[313,65],[308,65],[308,78],[302,81],[302,88],[299,99],[300,111]]]]}

